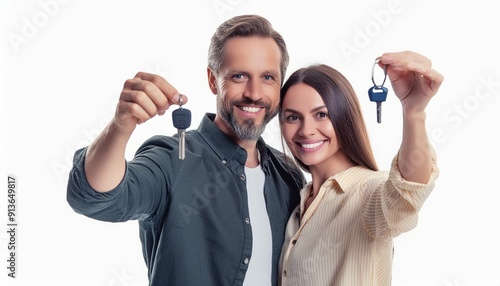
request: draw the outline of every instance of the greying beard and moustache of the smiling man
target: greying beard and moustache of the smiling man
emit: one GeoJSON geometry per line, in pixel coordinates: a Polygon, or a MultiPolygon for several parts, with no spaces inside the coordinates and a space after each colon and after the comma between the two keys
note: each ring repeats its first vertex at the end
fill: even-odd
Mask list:
{"type": "Polygon", "coordinates": [[[234,132],[234,135],[240,140],[252,140],[257,141],[264,132],[267,123],[273,119],[278,113],[278,109],[271,110],[269,104],[261,104],[260,101],[252,101],[249,98],[245,98],[242,101],[232,101],[228,105],[225,105],[222,99],[218,99],[217,109],[220,117],[224,120],[227,126],[234,132]],[[266,112],[262,122],[256,124],[255,120],[252,118],[245,119],[243,122],[238,122],[238,119],[234,116],[233,108],[238,108],[238,105],[255,105],[262,106],[265,108],[266,112]]]}

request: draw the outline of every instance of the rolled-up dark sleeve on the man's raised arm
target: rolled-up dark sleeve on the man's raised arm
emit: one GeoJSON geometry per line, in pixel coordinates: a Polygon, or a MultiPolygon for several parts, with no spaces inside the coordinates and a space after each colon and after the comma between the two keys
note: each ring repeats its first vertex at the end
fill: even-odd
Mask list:
{"type": "Polygon", "coordinates": [[[69,174],[67,201],[77,213],[109,222],[144,220],[165,201],[167,180],[150,156],[136,155],[126,163],[122,181],[109,192],[97,192],[84,171],[86,148],[75,152],[69,174]]]}

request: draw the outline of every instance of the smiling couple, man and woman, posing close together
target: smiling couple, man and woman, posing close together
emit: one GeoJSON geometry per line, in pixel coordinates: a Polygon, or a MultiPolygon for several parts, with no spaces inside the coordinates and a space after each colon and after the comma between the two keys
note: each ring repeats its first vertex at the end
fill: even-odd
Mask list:
{"type": "Polygon", "coordinates": [[[438,175],[425,107],[443,78],[412,52],[379,63],[403,106],[390,172],[377,170],[349,82],[326,65],[284,82],[283,38],[245,15],[212,37],[217,112],[186,133],[185,159],[177,137],[153,136],[125,160],[138,124],[188,100],[160,76],[138,73],[113,120],[75,153],[68,202],[98,220],[138,220],[153,286],[390,285],[392,238],[415,227],[438,175]],[[260,138],[275,115],[293,160],[260,138]]]}

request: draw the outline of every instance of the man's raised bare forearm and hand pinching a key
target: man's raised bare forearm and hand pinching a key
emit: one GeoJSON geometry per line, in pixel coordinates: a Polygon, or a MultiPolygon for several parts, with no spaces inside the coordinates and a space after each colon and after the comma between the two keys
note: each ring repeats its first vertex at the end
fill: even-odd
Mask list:
{"type": "MultiPolygon", "coordinates": [[[[125,82],[115,117],[87,149],[85,175],[98,192],[115,188],[125,174],[125,149],[137,124],[178,104],[179,92],[164,78],[139,72],[125,82]]],[[[183,96],[183,101],[187,98],[183,96]]]]}

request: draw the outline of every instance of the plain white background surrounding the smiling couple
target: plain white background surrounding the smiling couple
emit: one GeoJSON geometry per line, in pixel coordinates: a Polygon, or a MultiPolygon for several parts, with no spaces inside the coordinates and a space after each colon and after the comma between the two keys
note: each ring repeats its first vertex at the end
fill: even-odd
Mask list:
{"type": "MultiPolygon", "coordinates": [[[[500,286],[499,1],[14,1],[0,0],[1,285],[146,285],[137,222],[104,223],[66,202],[73,152],[114,114],[126,79],[164,76],[190,98],[192,128],[215,111],[206,80],[209,39],[224,20],[257,13],[283,35],[287,75],[326,63],[353,84],[379,166],[401,134],[389,87],[376,123],[374,59],[413,50],[445,81],[428,108],[441,176],[418,226],[396,238],[393,285],[500,286]],[[17,177],[17,273],[7,277],[7,176],[17,177]]],[[[139,126],[133,156],[170,113],[139,126]]],[[[265,140],[281,148],[273,121],[265,140]]]]}

